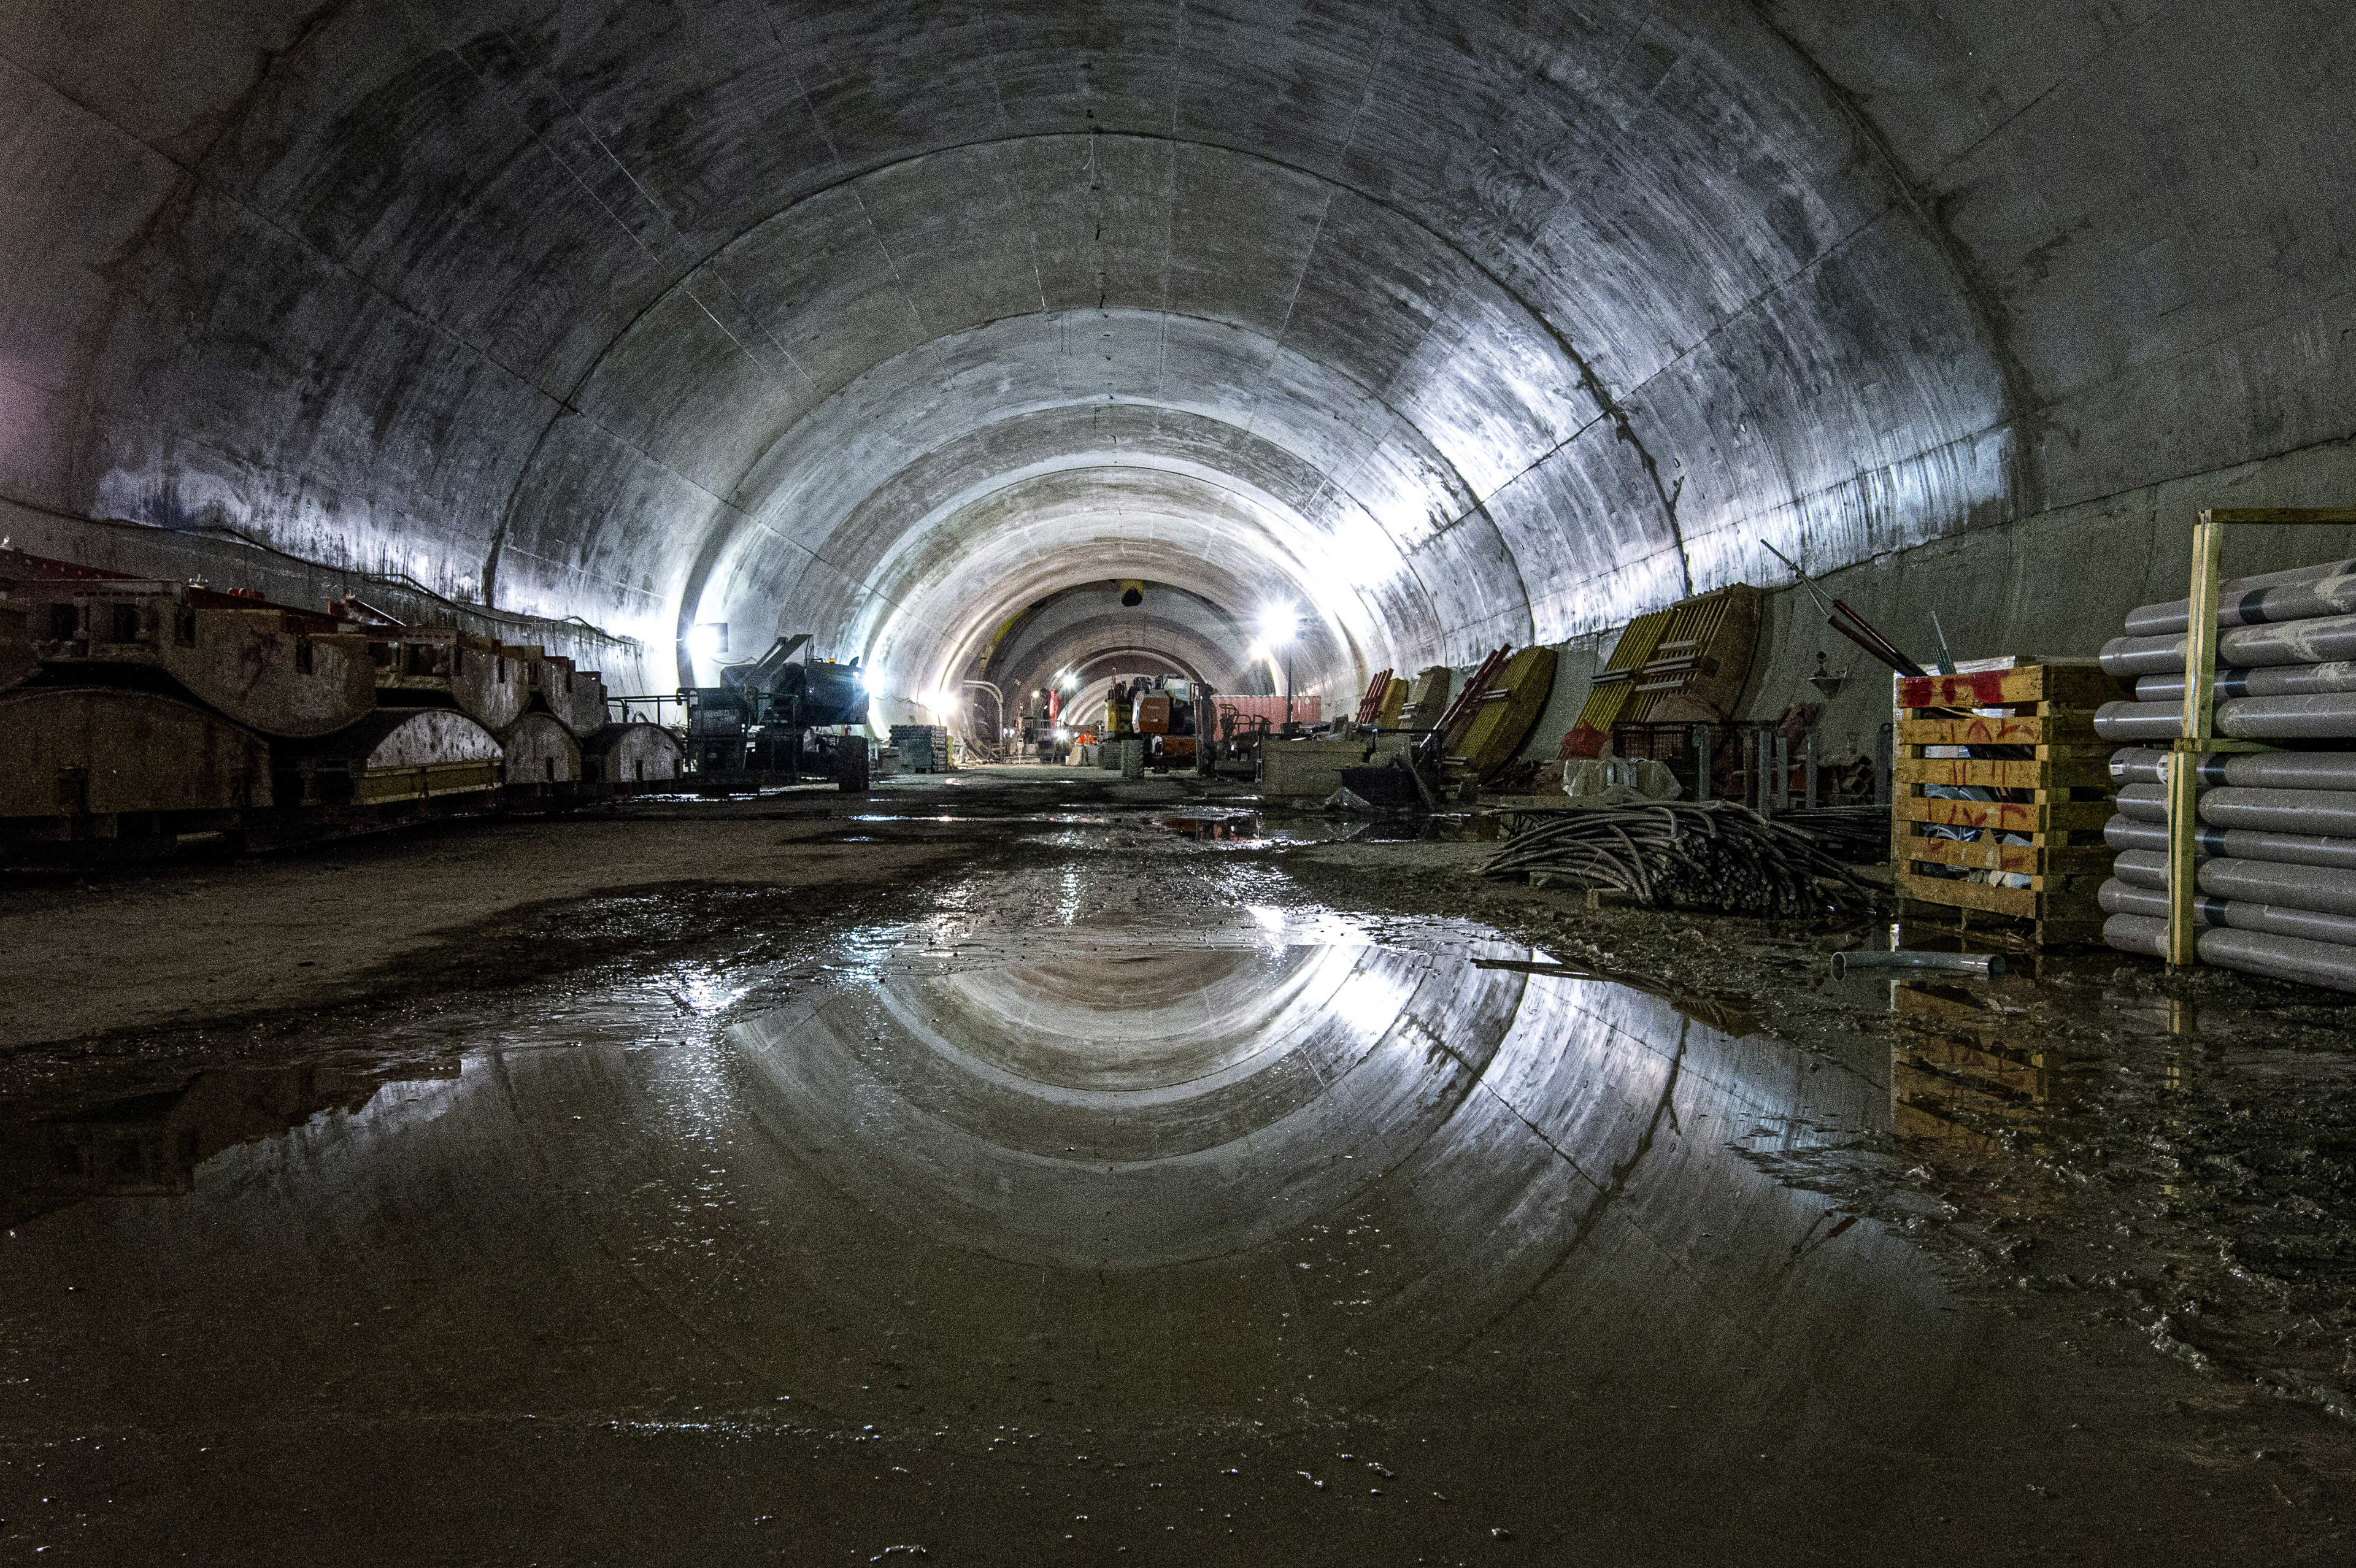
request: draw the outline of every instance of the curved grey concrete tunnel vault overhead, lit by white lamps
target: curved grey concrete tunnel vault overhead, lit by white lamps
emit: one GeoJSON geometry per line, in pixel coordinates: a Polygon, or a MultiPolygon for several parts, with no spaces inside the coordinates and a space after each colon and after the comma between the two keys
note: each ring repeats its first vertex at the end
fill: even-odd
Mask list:
{"type": "MultiPolygon", "coordinates": [[[[7,499],[584,617],[643,643],[620,685],[709,619],[914,695],[1138,577],[1301,607],[1303,685],[1355,692],[1779,582],[1762,537],[1833,567],[2340,419],[2259,419],[2271,348],[2226,351],[2184,372],[2224,433],[2057,480],[2050,400],[2092,400],[2076,450],[2186,344],[2106,294],[2149,254],[2050,242],[2078,325],[1991,283],[2036,238],[2005,200],[2040,160],[2047,224],[2168,160],[2210,200],[2153,61],[2127,129],[2003,139],[2132,54],[2116,7],[118,9],[5,45],[7,499]],[[1899,66],[1904,106],[1845,85],[1899,66]]],[[[2349,52],[2309,33],[2295,75],[2349,52]]],[[[2337,245],[2236,287],[2311,297],[2337,245]]]]}

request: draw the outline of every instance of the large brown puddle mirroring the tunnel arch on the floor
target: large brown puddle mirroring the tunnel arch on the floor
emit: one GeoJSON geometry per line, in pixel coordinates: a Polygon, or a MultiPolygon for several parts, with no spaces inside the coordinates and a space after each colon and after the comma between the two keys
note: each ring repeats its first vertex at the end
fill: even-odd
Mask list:
{"type": "MultiPolygon", "coordinates": [[[[912,1535],[1041,1561],[1138,1509],[1209,1526],[1218,1561],[1458,1561],[1498,1521],[1677,1561],[1739,1528],[1687,1504],[1727,1476],[1805,1523],[1899,1453],[1911,1502],[1873,1507],[1946,1511],[2040,1398],[2050,1366],[1904,1236],[1758,1158],[1885,1130],[1887,1059],[1211,871],[1187,925],[1131,909],[1129,866],[973,876],[775,968],[485,1015],[455,1076],[375,1095],[200,1081],[139,1111],[155,1147],[198,1128],[193,1177],[19,1210],[0,1429],[165,1434],[203,1488],[297,1464],[313,1511],[389,1471],[502,1509],[547,1474],[565,1509],[613,1497],[608,1526],[726,1486],[806,1521],[799,1561],[912,1535]],[[690,1431],[721,1448],[620,1441],[690,1431]],[[1303,1471],[1369,1446],[1357,1497],[1397,1469],[1425,1511],[1298,1511],[1303,1471]],[[902,1474],[935,1488],[926,1535],[862,1490],[902,1474]],[[999,1540],[1008,1516],[1034,1535],[999,1540]],[[1249,1519],[1277,1544],[1227,1535],[1249,1519]]],[[[483,1514],[396,1535],[532,1540],[483,1514]]],[[[1209,1544],[1065,1552],[1105,1542],[1209,1544]]],[[[1562,1561],[1531,1549],[1505,1559],[1562,1561]]]]}

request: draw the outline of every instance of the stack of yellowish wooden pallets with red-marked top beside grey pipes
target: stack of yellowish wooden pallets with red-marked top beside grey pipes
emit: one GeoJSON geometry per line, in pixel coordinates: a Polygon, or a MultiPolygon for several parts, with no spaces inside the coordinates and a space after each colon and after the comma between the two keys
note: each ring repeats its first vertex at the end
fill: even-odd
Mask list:
{"type": "Polygon", "coordinates": [[[2017,928],[2038,946],[2102,937],[2097,892],[2113,850],[2111,746],[2094,709],[2127,685],[2092,664],[2017,664],[1965,676],[1897,678],[1897,798],[1890,862],[1899,913],[1953,925],[2017,928]],[[2007,746],[2026,756],[1988,756],[2007,746]],[[1932,756],[1955,751],[1963,756],[1932,756]],[[2000,800],[1930,796],[1934,784],[2003,791],[2000,800]],[[1977,841],[1930,838],[1932,826],[1984,829],[1977,841]],[[2000,843],[2017,833],[2029,843],[2000,843]],[[2003,888],[1937,876],[1934,866],[2026,876],[2003,888]]]}

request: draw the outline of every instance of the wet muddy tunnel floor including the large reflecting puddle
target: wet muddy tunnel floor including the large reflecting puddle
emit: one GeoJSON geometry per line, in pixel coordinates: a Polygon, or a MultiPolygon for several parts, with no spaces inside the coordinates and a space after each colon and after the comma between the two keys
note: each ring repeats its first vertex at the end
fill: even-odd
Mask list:
{"type": "Polygon", "coordinates": [[[2344,1008],[1034,775],[0,883],[0,1554],[2356,1554],[2344,1008]]]}

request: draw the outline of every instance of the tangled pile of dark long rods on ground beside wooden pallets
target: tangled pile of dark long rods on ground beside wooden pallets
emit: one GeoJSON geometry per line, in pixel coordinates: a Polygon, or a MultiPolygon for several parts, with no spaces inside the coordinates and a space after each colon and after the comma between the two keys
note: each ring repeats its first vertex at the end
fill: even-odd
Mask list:
{"type": "Polygon", "coordinates": [[[1732,800],[1527,812],[1513,817],[1513,836],[1482,873],[1741,916],[1835,913],[1875,899],[1816,836],[1732,800]]]}

